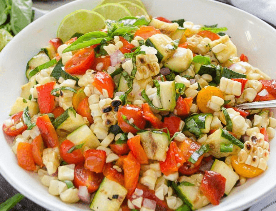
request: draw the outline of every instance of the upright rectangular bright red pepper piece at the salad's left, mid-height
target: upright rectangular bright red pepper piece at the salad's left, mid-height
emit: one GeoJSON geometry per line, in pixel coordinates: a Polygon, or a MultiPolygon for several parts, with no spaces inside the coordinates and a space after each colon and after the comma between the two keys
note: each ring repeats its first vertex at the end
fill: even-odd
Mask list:
{"type": "Polygon", "coordinates": [[[40,113],[51,113],[55,108],[55,96],[51,91],[55,88],[55,81],[36,87],[37,103],[40,113]]]}

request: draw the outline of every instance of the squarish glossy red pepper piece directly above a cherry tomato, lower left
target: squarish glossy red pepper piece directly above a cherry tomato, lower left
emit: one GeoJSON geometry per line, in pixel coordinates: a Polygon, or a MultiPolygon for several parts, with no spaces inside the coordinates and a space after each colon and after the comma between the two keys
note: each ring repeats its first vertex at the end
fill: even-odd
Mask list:
{"type": "Polygon", "coordinates": [[[103,171],[106,160],[106,152],[98,149],[88,149],[83,153],[85,157],[84,167],[90,171],[100,173],[103,171]]]}

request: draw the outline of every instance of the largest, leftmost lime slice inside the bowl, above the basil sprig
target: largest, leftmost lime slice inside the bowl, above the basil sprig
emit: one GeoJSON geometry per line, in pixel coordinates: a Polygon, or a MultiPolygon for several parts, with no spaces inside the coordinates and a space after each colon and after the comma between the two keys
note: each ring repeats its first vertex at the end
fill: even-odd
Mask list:
{"type": "Polygon", "coordinates": [[[94,11],[80,9],[65,16],[61,21],[57,36],[63,42],[70,40],[72,35],[88,33],[105,28],[105,18],[94,11]]]}

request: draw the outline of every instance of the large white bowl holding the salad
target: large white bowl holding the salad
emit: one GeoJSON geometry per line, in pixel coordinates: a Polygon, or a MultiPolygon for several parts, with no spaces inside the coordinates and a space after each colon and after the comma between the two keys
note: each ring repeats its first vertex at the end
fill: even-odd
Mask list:
{"type": "MultiPolygon", "coordinates": [[[[232,6],[208,0],[143,0],[152,16],[164,16],[171,20],[185,18],[195,24],[228,27],[238,48],[238,54],[248,56],[250,64],[275,78],[276,30],[267,23],[232,6]]],[[[1,113],[0,125],[8,118],[15,99],[20,95],[20,86],[27,82],[25,69],[28,60],[39,49],[55,38],[61,20],[77,9],[92,9],[96,1],[78,0],[57,8],[24,28],[0,53],[1,113]]],[[[30,173],[17,165],[11,151],[11,140],[6,140],[1,130],[0,172],[19,192],[35,203],[58,211],[90,210],[84,203],[66,204],[48,193],[36,173],[30,173]]],[[[249,179],[243,186],[234,188],[220,205],[208,205],[200,210],[229,211],[243,210],[257,203],[276,186],[276,145],[270,145],[271,154],[268,170],[262,175],[249,179]]]]}

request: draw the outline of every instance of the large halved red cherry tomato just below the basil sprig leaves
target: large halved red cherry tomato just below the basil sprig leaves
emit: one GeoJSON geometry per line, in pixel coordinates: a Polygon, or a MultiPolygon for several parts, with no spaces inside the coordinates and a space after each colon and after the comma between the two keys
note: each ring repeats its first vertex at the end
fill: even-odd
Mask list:
{"type": "Polygon", "coordinates": [[[83,48],[75,53],[65,64],[65,72],[70,74],[85,74],[86,70],[93,64],[94,58],[94,48],[83,48]]]}

